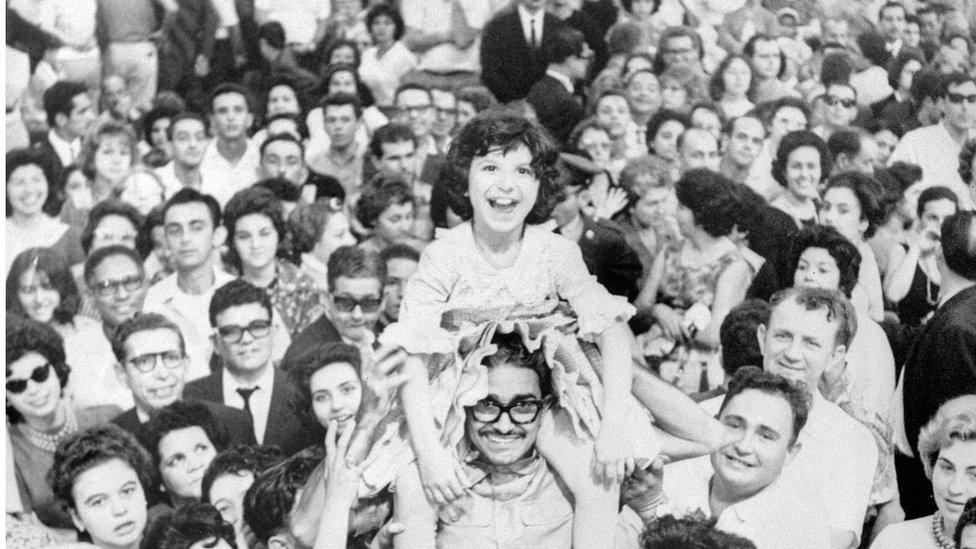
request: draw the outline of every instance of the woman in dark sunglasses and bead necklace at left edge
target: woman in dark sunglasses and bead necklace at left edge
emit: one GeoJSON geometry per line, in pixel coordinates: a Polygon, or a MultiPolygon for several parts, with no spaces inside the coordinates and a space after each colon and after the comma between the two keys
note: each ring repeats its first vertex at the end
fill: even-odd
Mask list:
{"type": "Polygon", "coordinates": [[[7,432],[20,499],[45,525],[73,532],[71,517],[46,480],[54,452],[69,435],[107,423],[121,409],[71,403],[65,395],[71,369],[64,341],[51,326],[8,316],[6,336],[7,432]]]}

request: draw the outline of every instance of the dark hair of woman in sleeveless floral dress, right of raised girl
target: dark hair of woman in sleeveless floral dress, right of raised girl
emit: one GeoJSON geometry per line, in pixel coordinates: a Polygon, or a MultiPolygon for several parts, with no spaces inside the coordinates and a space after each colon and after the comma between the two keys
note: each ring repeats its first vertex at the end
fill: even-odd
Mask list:
{"type": "Polygon", "coordinates": [[[737,219],[734,215],[732,183],[724,175],[708,169],[688,170],[675,183],[678,202],[691,210],[695,224],[714,236],[727,236],[737,219]]]}

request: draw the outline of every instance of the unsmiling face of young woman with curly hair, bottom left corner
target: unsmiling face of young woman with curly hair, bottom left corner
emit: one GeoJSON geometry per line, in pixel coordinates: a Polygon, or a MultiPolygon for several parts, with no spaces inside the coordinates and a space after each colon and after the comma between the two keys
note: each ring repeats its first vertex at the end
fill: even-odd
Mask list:
{"type": "Polygon", "coordinates": [[[131,547],[146,527],[146,494],[139,476],[120,459],[87,469],[71,485],[71,518],[98,547],[131,547]]]}

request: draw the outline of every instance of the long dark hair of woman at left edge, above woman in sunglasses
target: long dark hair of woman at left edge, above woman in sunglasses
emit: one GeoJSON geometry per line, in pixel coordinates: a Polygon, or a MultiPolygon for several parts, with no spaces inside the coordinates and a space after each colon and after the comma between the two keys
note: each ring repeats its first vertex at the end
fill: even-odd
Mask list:
{"type": "Polygon", "coordinates": [[[51,288],[58,292],[61,303],[54,309],[52,321],[71,324],[81,306],[78,285],[64,256],[50,248],[28,248],[14,258],[7,272],[7,312],[21,318],[28,317],[20,304],[19,290],[20,277],[30,270],[43,273],[51,288]]]}

